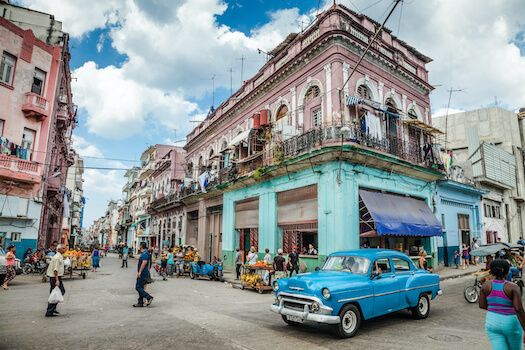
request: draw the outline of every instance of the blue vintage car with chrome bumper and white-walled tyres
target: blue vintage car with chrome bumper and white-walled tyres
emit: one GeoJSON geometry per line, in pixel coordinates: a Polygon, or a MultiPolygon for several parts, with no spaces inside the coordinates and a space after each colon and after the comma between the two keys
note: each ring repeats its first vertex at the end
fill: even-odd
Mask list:
{"type": "Polygon", "coordinates": [[[275,303],[270,309],[284,322],[332,324],[343,338],[353,337],[361,320],[401,309],[426,318],[430,299],[441,295],[438,275],[386,249],[333,253],[321,270],[276,280],[272,287],[275,303]]]}

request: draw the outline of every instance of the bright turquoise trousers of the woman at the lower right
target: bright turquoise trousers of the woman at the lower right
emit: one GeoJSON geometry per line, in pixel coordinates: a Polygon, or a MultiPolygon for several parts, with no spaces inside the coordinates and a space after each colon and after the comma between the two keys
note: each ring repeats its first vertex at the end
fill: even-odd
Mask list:
{"type": "Polygon", "coordinates": [[[492,349],[521,350],[523,330],[516,315],[501,315],[488,311],[485,330],[492,344],[492,349]]]}

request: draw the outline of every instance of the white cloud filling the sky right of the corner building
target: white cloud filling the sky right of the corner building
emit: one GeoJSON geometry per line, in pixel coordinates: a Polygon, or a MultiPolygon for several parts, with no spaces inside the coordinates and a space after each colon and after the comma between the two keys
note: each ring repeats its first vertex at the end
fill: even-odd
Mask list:
{"type": "MultiPolygon", "coordinates": [[[[355,10],[350,1],[342,2],[355,10]]],[[[352,3],[364,9],[370,2],[352,3]]],[[[378,19],[390,4],[382,2],[365,14],[378,19]]],[[[429,80],[442,85],[430,96],[434,109],[446,108],[446,89],[451,87],[465,89],[465,93],[453,93],[453,108],[484,107],[493,104],[495,96],[500,106],[511,110],[525,105],[525,57],[514,44],[518,41],[523,45],[523,1],[490,0],[483,5],[476,0],[400,3],[386,25],[396,36],[401,6],[399,37],[434,60],[427,65],[429,80]]]]}

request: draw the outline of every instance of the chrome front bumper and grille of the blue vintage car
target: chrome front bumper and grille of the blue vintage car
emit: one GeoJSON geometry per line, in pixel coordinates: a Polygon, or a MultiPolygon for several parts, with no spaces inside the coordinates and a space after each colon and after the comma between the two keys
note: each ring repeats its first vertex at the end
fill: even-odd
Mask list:
{"type": "Polygon", "coordinates": [[[312,321],[325,324],[338,324],[340,322],[339,316],[332,316],[333,309],[323,305],[317,298],[298,297],[293,294],[280,293],[278,295],[278,302],[270,306],[270,310],[285,316],[295,316],[301,318],[303,321],[312,321]],[[291,309],[286,307],[287,303],[301,304],[302,309],[291,309]],[[311,312],[310,308],[313,303],[319,306],[317,312],[311,312]]]}

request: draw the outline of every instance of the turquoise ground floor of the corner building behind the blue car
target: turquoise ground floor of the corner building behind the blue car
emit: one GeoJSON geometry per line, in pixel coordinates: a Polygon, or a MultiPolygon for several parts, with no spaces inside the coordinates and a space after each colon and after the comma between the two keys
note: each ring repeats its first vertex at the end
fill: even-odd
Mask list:
{"type": "MultiPolygon", "coordinates": [[[[321,266],[331,253],[380,247],[403,251],[415,259],[419,251],[425,250],[428,263],[437,266],[437,240],[426,232],[426,224],[421,223],[418,232],[380,234],[377,211],[381,203],[376,203],[379,208],[374,212],[368,208],[370,203],[367,207],[364,202],[362,191],[374,192],[376,197],[384,195],[390,202],[399,201],[396,210],[404,217],[418,214],[413,207],[405,207],[407,201],[423,205],[426,220],[432,221],[435,228],[437,220],[429,208],[434,184],[332,161],[224,193],[222,250],[227,255],[226,263],[233,266],[236,248],[246,254],[254,247],[262,260],[266,249],[273,258],[278,249],[287,254],[297,247],[300,262],[309,271],[321,266]],[[309,251],[316,254],[309,255],[309,251]]],[[[434,230],[432,235],[436,234],[434,230]]]]}

